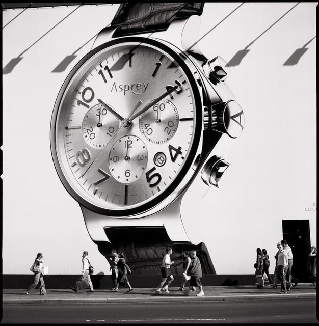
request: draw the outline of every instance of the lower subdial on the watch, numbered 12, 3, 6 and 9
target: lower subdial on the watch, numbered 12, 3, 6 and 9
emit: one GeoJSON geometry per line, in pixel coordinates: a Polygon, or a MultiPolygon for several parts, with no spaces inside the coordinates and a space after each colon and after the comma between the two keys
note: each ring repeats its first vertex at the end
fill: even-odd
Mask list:
{"type": "Polygon", "coordinates": [[[135,135],[125,135],[112,147],[109,154],[110,171],[115,180],[132,183],[140,178],[147,165],[147,148],[135,135]]]}

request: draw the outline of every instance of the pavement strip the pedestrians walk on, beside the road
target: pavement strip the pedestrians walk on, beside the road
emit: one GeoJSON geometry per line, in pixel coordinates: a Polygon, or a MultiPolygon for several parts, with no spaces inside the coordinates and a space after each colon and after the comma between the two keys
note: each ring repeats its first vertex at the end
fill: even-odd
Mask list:
{"type": "Polygon", "coordinates": [[[24,293],[24,289],[3,289],[3,304],[26,303],[143,303],[143,302],[176,302],[176,301],[212,301],[212,300],[246,300],[248,298],[296,298],[316,297],[316,289],[309,283],[298,284],[291,288],[287,294],[279,294],[280,286],[272,289],[266,285],[263,289],[257,289],[256,285],[242,286],[206,286],[203,287],[205,296],[196,296],[199,292],[191,291],[190,295],[184,295],[177,287],[169,288],[170,293],[161,291],[156,294],[155,288],[135,288],[127,293],[127,288],[120,288],[118,292],[110,292],[110,289],[96,289],[94,293],[82,290],[74,293],[71,289],[47,289],[47,295],[39,295],[36,288],[30,295],[24,293]]]}

